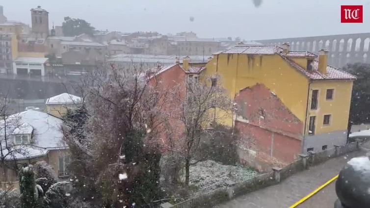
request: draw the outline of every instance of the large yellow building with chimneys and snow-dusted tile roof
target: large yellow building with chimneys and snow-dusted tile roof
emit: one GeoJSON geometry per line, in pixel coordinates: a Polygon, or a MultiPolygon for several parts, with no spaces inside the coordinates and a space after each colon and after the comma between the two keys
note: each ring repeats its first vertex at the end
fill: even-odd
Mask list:
{"type": "MultiPolygon", "coordinates": [[[[235,46],[217,52],[206,74],[217,74],[234,99],[239,91],[262,83],[302,122],[302,152],[346,143],[355,77],[327,65],[328,52],[290,51],[278,46],[235,46]]],[[[224,121],[233,125],[233,118],[224,121]]]]}

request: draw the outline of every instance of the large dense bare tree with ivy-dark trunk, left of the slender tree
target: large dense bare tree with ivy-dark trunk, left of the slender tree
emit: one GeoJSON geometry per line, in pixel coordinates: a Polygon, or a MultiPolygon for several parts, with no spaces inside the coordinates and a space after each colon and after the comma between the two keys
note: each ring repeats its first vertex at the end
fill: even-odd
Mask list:
{"type": "Polygon", "coordinates": [[[142,64],[132,63],[130,69],[110,67],[108,78],[105,71],[84,78],[85,125],[71,133],[72,126],[67,124],[63,132],[67,144],[86,156],[82,159],[95,176],[104,206],[134,202],[145,207],[155,201],[159,190],[159,179],[150,177],[158,173],[158,128],[168,118],[160,101],[166,101],[169,92],[147,84],[142,64]]]}

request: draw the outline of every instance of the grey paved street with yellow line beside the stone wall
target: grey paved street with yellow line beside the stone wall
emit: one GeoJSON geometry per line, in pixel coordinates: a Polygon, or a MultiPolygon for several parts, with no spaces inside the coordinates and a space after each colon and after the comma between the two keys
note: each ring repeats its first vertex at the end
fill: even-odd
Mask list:
{"type": "MultiPolygon", "coordinates": [[[[240,196],[220,204],[216,208],[289,208],[299,199],[337,175],[349,159],[365,154],[366,151],[353,152],[327,160],[322,164],[310,167],[309,170],[297,173],[279,184],[240,196]]],[[[299,208],[330,208],[334,206],[335,199],[335,182],[333,182],[300,205],[299,208]]]]}

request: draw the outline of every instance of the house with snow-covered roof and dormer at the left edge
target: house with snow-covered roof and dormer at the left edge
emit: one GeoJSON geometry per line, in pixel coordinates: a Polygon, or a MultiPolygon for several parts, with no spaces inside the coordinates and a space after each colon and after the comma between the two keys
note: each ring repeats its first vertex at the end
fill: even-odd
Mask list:
{"type": "MultiPolygon", "coordinates": [[[[68,177],[68,147],[63,142],[63,121],[52,115],[35,110],[26,110],[9,116],[6,126],[5,147],[4,122],[0,122],[1,151],[8,162],[7,179],[17,184],[18,169],[27,164],[44,160],[58,177],[68,177]]],[[[0,166],[1,172],[3,167],[0,166]]],[[[0,175],[0,182],[4,181],[0,175]]],[[[1,184],[0,184],[1,187],[1,184]]]]}

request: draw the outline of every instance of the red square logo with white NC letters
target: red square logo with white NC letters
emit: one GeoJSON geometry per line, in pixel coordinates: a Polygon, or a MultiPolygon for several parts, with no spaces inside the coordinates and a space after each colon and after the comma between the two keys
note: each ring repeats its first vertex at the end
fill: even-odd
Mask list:
{"type": "Polygon", "coordinates": [[[362,5],[341,5],[341,23],[362,23],[362,5]]]}

